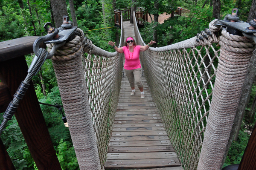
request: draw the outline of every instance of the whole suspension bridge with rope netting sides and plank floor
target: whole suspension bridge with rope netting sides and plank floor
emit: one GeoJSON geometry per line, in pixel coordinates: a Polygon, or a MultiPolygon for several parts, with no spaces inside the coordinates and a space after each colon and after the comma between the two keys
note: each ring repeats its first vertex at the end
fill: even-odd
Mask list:
{"type": "MultiPolygon", "coordinates": [[[[119,47],[130,36],[145,46],[138,18],[119,16],[119,47]]],[[[52,62],[81,170],[221,169],[255,48],[223,26],[213,20],[195,37],[140,52],[144,99],[129,95],[123,54],[76,30],[52,62]]]]}

